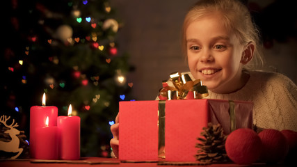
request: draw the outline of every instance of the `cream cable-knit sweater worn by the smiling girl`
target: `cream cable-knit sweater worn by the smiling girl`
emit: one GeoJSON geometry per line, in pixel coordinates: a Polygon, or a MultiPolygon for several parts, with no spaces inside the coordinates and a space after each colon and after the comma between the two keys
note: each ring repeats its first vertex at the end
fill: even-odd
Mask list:
{"type": "MultiPolygon", "coordinates": [[[[190,72],[186,73],[191,76],[190,72]]],[[[253,102],[254,125],[264,129],[291,129],[297,132],[297,86],[294,82],[275,72],[248,73],[250,79],[240,90],[230,94],[217,94],[209,90],[207,98],[253,102]]]]}

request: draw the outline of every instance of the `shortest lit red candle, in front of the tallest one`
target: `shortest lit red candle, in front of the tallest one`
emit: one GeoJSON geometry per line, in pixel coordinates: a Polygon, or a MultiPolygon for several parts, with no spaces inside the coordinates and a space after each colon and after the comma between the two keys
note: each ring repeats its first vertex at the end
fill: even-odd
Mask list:
{"type": "Polygon", "coordinates": [[[36,128],[35,139],[35,159],[58,159],[58,127],[49,127],[49,117],[45,127],[36,128]]]}

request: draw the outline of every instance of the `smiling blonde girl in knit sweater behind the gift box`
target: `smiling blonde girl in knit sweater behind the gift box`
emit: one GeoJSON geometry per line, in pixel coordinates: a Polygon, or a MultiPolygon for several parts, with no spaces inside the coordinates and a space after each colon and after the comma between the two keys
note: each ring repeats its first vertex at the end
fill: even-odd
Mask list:
{"type": "MultiPolygon", "coordinates": [[[[251,101],[254,125],[297,132],[297,87],[282,74],[252,70],[262,63],[261,48],[239,0],[201,0],[184,19],[188,74],[207,86],[207,98],[251,101]]],[[[111,147],[118,157],[118,116],[115,122],[111,147]]]]}

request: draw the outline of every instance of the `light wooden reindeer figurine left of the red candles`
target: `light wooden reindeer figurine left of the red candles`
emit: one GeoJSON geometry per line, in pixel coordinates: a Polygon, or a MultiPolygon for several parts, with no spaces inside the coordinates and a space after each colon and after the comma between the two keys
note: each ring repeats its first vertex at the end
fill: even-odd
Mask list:
{"type": "Polygon", "coordinates": [[[1,116],[0,122],[3,123],[6,127],[10,128],[6,130],[6,134],[9,134],[11,141],[4,142],[0,141],[0,150],[3,150],[5,152],[17,152],[17,155],[11,157],[10,159],[16,159],[19,157],[20,154],[22,154],[23,149],[19,148],[19,138],[17,137],[17,134],[19,134],[19,130],[15,129],[15,127],[18,127],[17,123],[15,123],[15,120],[13,119],[13,123],[11,125],[6,125],[6,121],[9,120],[10,116],[7,118],[6,116],[1,116]],[[15,123],[15,125],[13,125],[15,123]]]}

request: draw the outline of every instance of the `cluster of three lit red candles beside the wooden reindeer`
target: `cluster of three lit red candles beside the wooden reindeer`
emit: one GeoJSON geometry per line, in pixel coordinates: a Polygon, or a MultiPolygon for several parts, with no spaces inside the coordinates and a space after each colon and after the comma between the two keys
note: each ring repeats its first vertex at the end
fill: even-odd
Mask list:
{"type": "Polygon", "coordinates": [[[68,116],[58,117],[56,106],[30,109],[30,154],[33,159],[80,159],[80,123],[72,116],[71,104],[68,116]]]}

